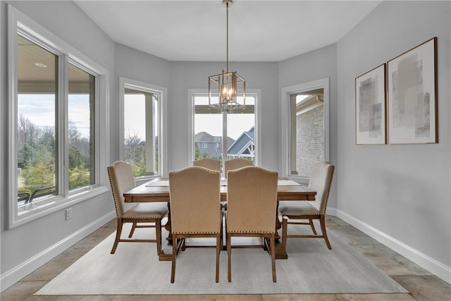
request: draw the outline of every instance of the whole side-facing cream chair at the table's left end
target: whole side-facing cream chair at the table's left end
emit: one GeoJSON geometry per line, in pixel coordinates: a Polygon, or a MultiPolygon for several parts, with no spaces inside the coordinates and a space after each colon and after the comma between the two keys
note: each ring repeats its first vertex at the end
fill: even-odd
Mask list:
{"type": "Polygon", "coordinates": [[[111,192],[113,193],[114,206],[116,207],[117,230],[116,240],[114,240],[111,254],[116,252],[119,242],[156,242],[156,253],[161,252],[161,219],[168,212],[166,202],[138,203],[132,204],[124,202],[123,193],[135,188],[135,176],[133,176],[132,166],[124,161],[116,161],[108,166],[111,192]],[[135,228],[155,228],[156,239],[137,240],[121,239],[122,227],[124,223],[132,223],[132,230],[128,238],[132,238],[135,228]],[[140,225],[138,223],[146,223],[140,225]],[[149,225],[149,223],[152,223],[149,225]]]}

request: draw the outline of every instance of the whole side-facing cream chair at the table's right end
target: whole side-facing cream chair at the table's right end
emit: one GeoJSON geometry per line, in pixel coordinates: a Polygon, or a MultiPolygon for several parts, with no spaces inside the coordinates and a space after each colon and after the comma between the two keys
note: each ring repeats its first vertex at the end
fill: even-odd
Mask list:
{"type": "Polygon", "coordinates": [[[329,250],[332,249],[326,233],[326,207],[332,184],[333,171],[335,167],[328,161],[318,162],[311,172],[309,189],[316,191],[315,201],[312,202],[280,202],[279,212],[283,216],[283,247],[286,250],[287,238],[324,238],[329,250]],[[321,235],[316,233],[313,220],[319,219],[321,224],[321,235]],[[308,220],[308,222],[292,221],[308,220]],[[310,225],[314,235],[288,234],[288,224],[310,225]]]}

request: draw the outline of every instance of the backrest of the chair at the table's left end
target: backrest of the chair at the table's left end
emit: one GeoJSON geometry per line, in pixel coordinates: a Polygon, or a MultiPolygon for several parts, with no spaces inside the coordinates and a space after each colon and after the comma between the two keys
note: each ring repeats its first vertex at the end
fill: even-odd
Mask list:
{"type": "Polygon", "coordinates": [[[122,217],[125,211],[123,193],[136,187],[132,166],[125,161],[116,161],[107,168],[116,216],[122,217]]]}

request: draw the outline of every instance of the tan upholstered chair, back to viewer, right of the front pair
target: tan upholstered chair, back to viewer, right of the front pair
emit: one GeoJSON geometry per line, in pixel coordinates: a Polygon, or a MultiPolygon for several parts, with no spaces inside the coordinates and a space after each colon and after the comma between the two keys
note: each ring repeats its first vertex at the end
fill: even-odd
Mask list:
{"type": "Polygon", "coordinates": [[[273,282],[276,282],[276,233],[278,173],[257,166],[228,171],[227,254],[228,281],[232,281],[231,238],[252,236],[269,238],[273,282]]]}

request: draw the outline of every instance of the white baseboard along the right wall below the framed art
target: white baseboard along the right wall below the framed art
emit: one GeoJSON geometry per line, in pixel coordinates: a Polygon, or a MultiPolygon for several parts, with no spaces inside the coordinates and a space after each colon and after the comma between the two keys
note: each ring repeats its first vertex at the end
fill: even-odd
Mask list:
{"type": "Polygon", "coordinates": [[[371,238],[378,240],[378,242],[383,243],[383,245],[390,247],[390,249],[394,250],[395,252],[398,252],[407,259],[412,260],[412,262],[430,271],[435,276],[438,276],[439,278],[443,279],[443,281],[451,283],[450,266],[445,266],[445,264],[442,264],[441,262],[438,262],[437,260],[428,257],[426,254],[423,254],[418,250],[409,247],[403,242],[400,242],[399,240],[392,238],[390,235],[378,231],[378,229],[373,228],[369,224],[364,223],[363,221],[360,221],[359,219],[356,219],[343,211],[340,211],[338,209],[331,209],[330,214],[333,214],[333,211],[335,211],[336,213],[335,216],[338,216],[343,221],[350,223],[350,225],[371,236],[371,238]]]}

